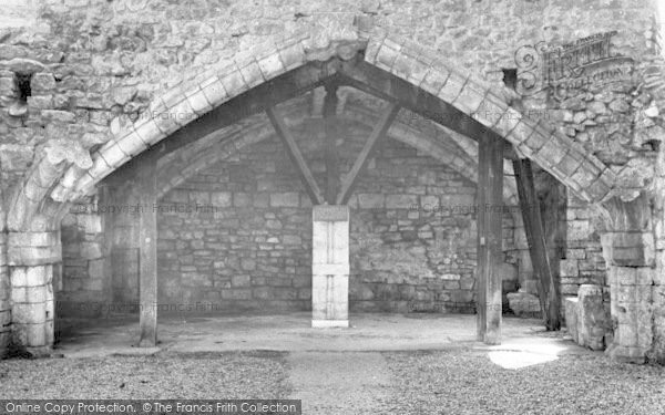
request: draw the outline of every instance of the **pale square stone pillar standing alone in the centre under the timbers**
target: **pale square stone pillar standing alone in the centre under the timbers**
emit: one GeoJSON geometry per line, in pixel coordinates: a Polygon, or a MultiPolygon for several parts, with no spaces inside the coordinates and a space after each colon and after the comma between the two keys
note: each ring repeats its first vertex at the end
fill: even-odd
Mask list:
{"type": "Polygon", "coordinates": [[[315,206],[311,226],[311,326],[349,326],[349,207],[315,206]]]}

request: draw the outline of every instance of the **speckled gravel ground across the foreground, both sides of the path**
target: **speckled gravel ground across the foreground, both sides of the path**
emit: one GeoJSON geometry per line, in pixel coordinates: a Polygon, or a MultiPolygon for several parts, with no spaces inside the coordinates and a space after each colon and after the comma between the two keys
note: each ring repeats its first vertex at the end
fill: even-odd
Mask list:
{"type": "MultiPolygon", "coordinates": [[[[319,394],[337,395],[340,405],[320,414],[665,414],[665,367],[613,363],[602,354],[562,355],[519,370],[466,346],[375,354],[386,373],[367,387],[385,393],[366,394],[368,411],[355,412],[358,403],[345,401],[354,393],[321,387],[319,394]]],[[[308,397],[306,406],[318,405],[320,395],[293,388],[297,367],[289,359],[256,351],[8,360],[0,361],[0,391],[3,398],[308,397]]],[[[376,377],[376,367],[365,370],[376,377]]]]}

